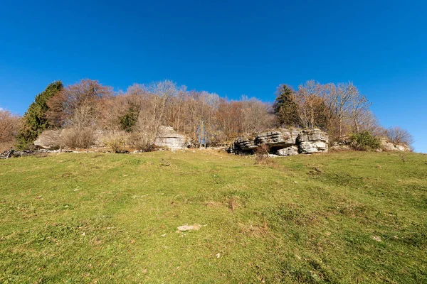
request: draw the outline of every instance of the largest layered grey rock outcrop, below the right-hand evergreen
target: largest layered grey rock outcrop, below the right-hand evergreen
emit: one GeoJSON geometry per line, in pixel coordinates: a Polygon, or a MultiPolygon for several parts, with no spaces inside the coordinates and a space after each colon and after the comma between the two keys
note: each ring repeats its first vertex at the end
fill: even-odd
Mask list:
{"type": "Polygon", "coordinates": [[[254,153],[266,146],[271,154],[297,155],[298,153],[322,153],[328,149],[327,133],[320,129],[279,129],[259,133],[252,139],[236,139],[228,153],[254,153]]]}

